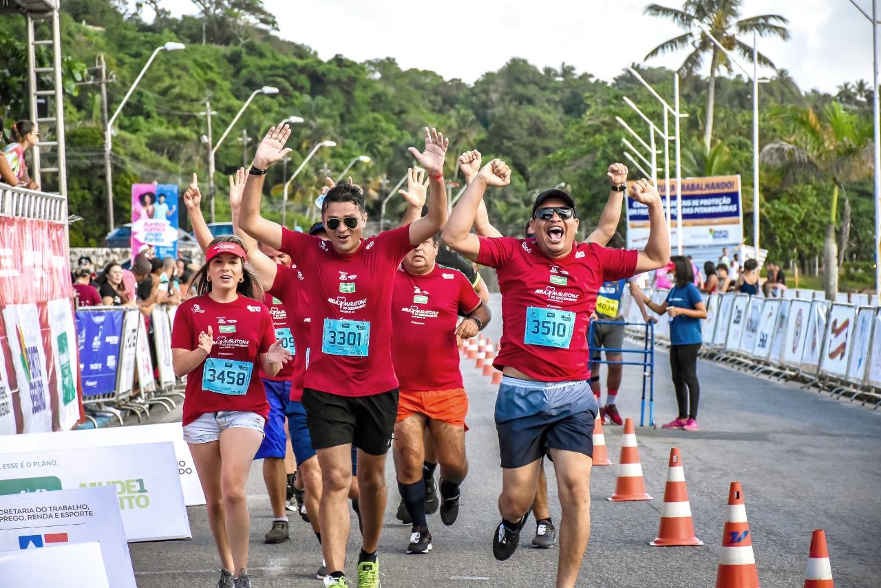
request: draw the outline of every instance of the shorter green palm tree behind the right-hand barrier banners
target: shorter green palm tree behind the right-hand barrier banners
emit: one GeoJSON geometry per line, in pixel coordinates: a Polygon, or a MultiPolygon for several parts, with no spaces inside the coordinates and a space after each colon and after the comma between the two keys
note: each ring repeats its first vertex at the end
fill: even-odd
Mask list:
{"type": "Polygon", "coordinates": [[[872,125],[867,117],[832,102],[823,109],[822,119],[811,108],[790,108],[785,115],[790,136],[762,149],[761,161],[782,167],[785,182],[792,185],[806,177],[820,177],[832,182],[832,205],[826,227],[823,257],[826,267],[826,298],[834,300],[838,292],[838,271],[844,262],[850,231],[850,203],[845,182],[860,182],[872,175],[872,125]],[[845,214],[840,248],[835,244],[838,218],[838,195],[844,193],[845,214]],[[840,253],[839,253],[840,249],[840,253]]]}

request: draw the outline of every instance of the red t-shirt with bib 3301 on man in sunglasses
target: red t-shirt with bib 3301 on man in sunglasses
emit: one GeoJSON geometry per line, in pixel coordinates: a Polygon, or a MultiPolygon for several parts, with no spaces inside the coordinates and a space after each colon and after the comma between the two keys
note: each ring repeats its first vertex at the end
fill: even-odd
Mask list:
{"type": "MultiPolygon", "coordinates": [[[[282,228],[279,250],[303,272],[312,318],[306,388],[340,396],[397,388],[391,291],[397,266],[411,249],[409,226],[362,240],[347,255],[337,253],[329,241],[282,228]]],[[[273,290],[281,287],[279,278],[291,276],[279,272],[273,290]]]]}

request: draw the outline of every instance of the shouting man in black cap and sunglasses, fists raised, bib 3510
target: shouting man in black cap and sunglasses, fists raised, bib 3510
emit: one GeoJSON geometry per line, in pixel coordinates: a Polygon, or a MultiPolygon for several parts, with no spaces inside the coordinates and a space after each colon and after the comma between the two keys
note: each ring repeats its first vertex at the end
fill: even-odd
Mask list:
{"type": "Polygon", "coordinates": [[[589,316],[603,281],[629,278],[666,264],[670,257],[661,198],[646,180],[631,197],[648,205],[645,249],[606,249],[575,242],[575,203],[563,190],[546,190],[532,207],[530,239],[487,238],[470,233],[487,186],[506,186],[511,171],[492,160],[470,182],[441,238],[465,257],[496,269],[504,329],[494,364],[504,374],[496,398],[502,522],[492,552],[506,560],[517,547],[536,495],[539,465],[554,461],[560,524],[557,586],[574,586],[590,534],[592,432],[598,413],[588,380],[589,316]]]}

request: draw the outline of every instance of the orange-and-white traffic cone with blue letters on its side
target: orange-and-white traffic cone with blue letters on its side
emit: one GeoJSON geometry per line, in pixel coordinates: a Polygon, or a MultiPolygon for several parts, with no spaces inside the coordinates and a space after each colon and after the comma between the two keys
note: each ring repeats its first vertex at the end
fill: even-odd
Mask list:
{"type": "Polygon", "coordinates": [[[750,524],[746,521],[744,490],[740,482],[731,482],[728,492],[716,588],[759,588],[759,570],[752,554],[750,524]]]}

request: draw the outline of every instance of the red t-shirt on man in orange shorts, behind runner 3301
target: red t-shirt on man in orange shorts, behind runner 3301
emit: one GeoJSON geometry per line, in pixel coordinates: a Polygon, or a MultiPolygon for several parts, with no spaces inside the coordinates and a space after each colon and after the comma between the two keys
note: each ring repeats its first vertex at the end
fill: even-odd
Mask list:
{"type": "Polygon", "coordinates": [[[467,315],[479,305],[480,297],[462,272],[440,265],[422,276],[397,271],[391,352],[401,391],[463,388],[455,323],[460,313],[467,315]]]}

